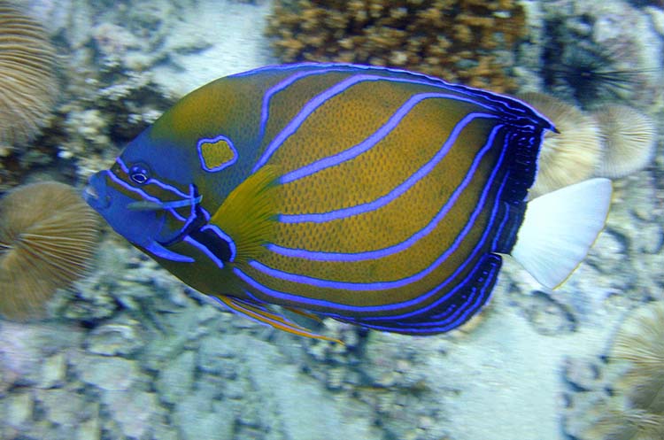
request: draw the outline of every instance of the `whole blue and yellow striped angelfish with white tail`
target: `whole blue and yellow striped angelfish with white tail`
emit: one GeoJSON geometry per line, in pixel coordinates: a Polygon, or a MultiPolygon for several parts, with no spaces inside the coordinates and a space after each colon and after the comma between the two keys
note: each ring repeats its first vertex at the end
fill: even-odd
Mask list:
{"type": "Polygon", "coordinates": [[[480,311],[501,254],[553,288],[604,227],[606,179],[526,203],[547,130],[528,104],[420,73],[267,66],[184,96],[85,197],[254,320],[325,338],[281,305],[430,335],[480,311]]]}

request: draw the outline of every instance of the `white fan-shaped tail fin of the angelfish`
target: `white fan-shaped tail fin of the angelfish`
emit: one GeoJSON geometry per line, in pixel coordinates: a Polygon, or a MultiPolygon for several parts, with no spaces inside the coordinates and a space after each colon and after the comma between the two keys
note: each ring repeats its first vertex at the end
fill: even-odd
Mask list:
{"type": "Polygon", "coordinates": [[[531,200],[513,258],[544,287],[558,287],[604,228],[611,191],[608,179],[591,179],[531,200]]]}

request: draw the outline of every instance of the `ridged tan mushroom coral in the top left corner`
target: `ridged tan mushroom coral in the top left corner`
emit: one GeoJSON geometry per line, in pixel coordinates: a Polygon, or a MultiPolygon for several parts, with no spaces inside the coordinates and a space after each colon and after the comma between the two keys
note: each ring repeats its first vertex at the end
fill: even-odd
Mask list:
{"type": "Polygon", "coordinates": [[[27,143],[50,115],[56,54],[43,28],[0,0],[0,143],[27,143]]]}

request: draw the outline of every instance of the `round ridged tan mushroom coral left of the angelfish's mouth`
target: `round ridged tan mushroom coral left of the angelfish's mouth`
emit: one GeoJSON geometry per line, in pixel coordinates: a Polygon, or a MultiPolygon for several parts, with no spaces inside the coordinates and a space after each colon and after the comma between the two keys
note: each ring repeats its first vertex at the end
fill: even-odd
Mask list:
{"type": "Polygon", "coordinates": [[[56,289],[85,274],[97,235],[97,214],[69,185],[10,191],[0,200],[0,313],[14,320],[42,313],[56,289]]]}

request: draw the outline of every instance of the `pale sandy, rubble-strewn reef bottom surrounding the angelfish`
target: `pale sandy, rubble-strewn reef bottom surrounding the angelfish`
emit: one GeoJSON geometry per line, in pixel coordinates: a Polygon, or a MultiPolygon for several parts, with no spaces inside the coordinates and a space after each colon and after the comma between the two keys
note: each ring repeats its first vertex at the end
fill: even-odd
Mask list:
{"type": "MultiPolygon", "coordinates": [[[[30,148],[6,151],[0,191],[44,175],[81,181],[109,166],[121,144],[182,93],[224,74],[274,63],[257,30],[271,2],[248,3],[258,5],[237,0],[25,2],[36,5],[33,15],[41,17],[58,51],[66,54],[67,63],[60,66],[66,89],[30,148]]],[[[447,80],[468,82],[476,76],[475,85],[493,81],[494,89],[511,89],[513,82],[501,78],[513,66],[512,42],[524,32],[519,20],[527,19],[528,42],[519,44],[513,72],[520,90],[544,85],[567,102],[598,112],[607,104],[602,101],[629,101],[652,116],[661,142],[661,113],[651,106],[661,104],[664,12],[645,5],[660,2],[522,1],[528,11],[524,17],[518,9],[511,17],[499,8],[487,12],[501,26],[513,20],[507,31],[513,40],[479,52],[472,52],[478,50],[475,42],[464,52],[458,38],[467,36],[463,27],[473,32],[480,27],[452,23],[459,18],[455,10],[442,18],[451,27],[436,30],[436,11],[425,11],[434,4],[473,2],[326,3],[280,2],[284,12],[297,12],[298,4],[305,5],[302,11],[316,12],[290,14],[292,24],[272,30],[275,42],[332,35],[320,43],[330,52],[316,59],[372,62],[369,47],[375,63],[395,66],[393,56],[404,63],[398,66],[432,69],[427,72],[447,80]],[[362,23],[371,24],[331,30],[337,29],[339,16],[349,17],[343,7],[355,7],[366,14],[362,23]],[[409,12],[400,20],[399,7],[409,12]],[[407,41],[406,19],[421,24],[407,41]],[[305,29],[306,23],[320,29],[305,29]],[[342,35],[337,32],[350,35],[347,41],[340,38],[346,48],[335,42],[342,35]],[[405,49],[390,49],[395,42],[405,43],[405,49]],[[540,79],[535,73],[542,67],[543,44],[542,73],[551,76],[540,79]],[[364,58],[347,58],[356,48],[364,58]],[[478,72],[475,57],[480,56],[493,56],[496,71],[478,72]],[[530,64],[524,67],[526,58],[530,64]],[[579,58],[598,61],[570,72],[579,58]],[[567,70],[554,73],[561,64],[567,70]],[[578,82],[589,71],[598,85],[578,82]],[[614,73],[608,79],[616,86],[602,82],[605,73],[614,73]]],[[[469,8],[478,15],[496,4],[516,4],[474,3],[469,8]]],[[[485,32],[487,38],[501,36],[485,32]]],[[[296,52],[304,59],[320,48],[313,44],[296,52]]],[[[569,135],[575,145],[575,135],[569,135]]],[[[618,379],[630,361],[612,357],[606,363],[601,355],[625,313],[661,296],[663,178],[659,154],[645,169],[614,181],[606,230],[561,289],[543,291],[506,259],[496,295],[477,327],[433,338],[358,331],[336,321],[326,327],[345,345],[275,332],[220,312],[116,235],[106,234],[97,245],[104,251],[94,257],[95,270],[73,282],[72,289],[58,289],[48,302],[52,320],[0,320],[0,437],[310,440],[334,432],[372,440],[513,440],[537,431],[538,440],[597,440],[600,435],[606,440],[606,428],[591,436],[588,427],[602,415],[614,414],[622,426],[652,424],[656,414],[625,405],[634,382],[618,379]]]]}

